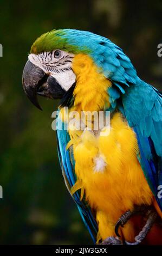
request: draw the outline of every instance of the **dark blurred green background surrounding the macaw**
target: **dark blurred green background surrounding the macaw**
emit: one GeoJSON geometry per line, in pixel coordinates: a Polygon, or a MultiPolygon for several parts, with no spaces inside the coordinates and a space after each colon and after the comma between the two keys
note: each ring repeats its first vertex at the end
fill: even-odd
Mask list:
{"type": "Polygon", "coordinates": [[[92,244],[61,174],[51,113],[38,111],[22,90],[30,46],[51,29],[75,28],[111,39],[141,78],[162,88],[161,0],[0,0],[0,243],[92,244]]]}

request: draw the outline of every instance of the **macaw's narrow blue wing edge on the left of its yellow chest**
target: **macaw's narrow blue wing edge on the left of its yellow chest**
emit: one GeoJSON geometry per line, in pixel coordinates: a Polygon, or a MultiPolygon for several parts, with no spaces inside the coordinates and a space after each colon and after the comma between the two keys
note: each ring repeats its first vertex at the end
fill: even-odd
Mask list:
{"type": "MultiPolygon", "coordinates": [[[[64,127],[61,119],[57,118],[57,127],[64,127]]],[[[85,200],[80,200],[80,191],[76,191],[73,195],[70,192],[71,188],[75,184],[76,176],[74,172],[75,161],[73,157],[73,149],[67,150],[67,144],[70,141],[70,137],[67,130],[57,129],[57,149],[59,153],[59,160],[62,169],[64,182],[68,188],[69,193],[73,197],[80,215],[85,223],[93,242],[96,242],[96,234],[98,232],[98,226],[85,200]]]]}

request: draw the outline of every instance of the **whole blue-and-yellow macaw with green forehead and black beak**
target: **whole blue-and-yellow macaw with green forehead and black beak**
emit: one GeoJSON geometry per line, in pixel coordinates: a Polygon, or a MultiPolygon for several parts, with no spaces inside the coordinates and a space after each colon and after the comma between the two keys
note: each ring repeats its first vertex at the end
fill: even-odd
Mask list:
{"type": "Polygon", "coordinates": [[[61,99],[62,174],[94,243],[162,245],[162,94],[122,49],[87,31],[45,33],[31,46],[23,89],[40,109],[37,95],[61,99]],[[66,126],[64,107],[109,111],[109,131],[66,126]]]}

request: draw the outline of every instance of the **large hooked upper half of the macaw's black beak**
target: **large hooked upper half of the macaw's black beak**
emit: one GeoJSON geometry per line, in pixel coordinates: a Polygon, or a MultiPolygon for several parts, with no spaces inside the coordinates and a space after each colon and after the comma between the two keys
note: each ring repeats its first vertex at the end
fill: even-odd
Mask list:
{"type": "Polygon", "coordinates": [[[38,66],[27,61],[23,70],[23,89],[29,100],[39,109],[42,110],[37,100],[37,90],[46,76],[44,71],[38,66]]]}

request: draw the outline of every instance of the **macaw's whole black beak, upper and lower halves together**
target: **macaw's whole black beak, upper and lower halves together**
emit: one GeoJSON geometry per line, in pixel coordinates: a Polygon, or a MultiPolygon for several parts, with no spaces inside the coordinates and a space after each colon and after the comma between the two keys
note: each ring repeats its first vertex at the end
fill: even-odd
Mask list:
{"type": "Polygon", "coordinates": [[[48,76],[29,60],[23,70],[23,89],[29,100],[41,110],[37,94],[50,99],[61,99],[64,93],[66,93],[53,76],[48,76]]]}

